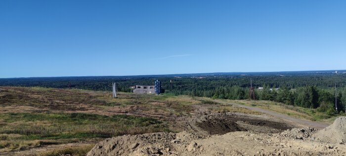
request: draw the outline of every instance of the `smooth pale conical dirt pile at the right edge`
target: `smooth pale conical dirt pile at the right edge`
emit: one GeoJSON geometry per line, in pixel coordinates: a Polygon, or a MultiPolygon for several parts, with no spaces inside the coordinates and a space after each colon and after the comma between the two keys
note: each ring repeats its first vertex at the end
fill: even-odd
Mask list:
{"type": "Polygon", "coordinates": [[[345,144],[346,143],[346,117],[335,119],[334,123],[313,135],[319,142],[345,144]]]}

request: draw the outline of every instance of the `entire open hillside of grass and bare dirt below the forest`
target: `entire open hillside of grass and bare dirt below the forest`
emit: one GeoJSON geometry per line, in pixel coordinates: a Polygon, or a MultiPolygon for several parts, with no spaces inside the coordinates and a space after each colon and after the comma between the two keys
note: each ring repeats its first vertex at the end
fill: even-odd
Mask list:
{"type": "Polygon", "coordinates": [[[312,121],[280,103],[21,87],[0,97],[3,156],[346,156],[345,116],[312,121]]]}

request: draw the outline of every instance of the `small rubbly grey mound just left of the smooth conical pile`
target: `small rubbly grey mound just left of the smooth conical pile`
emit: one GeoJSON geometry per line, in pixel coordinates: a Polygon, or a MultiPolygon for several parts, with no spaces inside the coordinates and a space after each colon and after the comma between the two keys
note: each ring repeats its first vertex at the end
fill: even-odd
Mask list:
{"type": "Polygon", "coordinates": [[[282,136],[293,139],[308,140],[312,134],[316,133],[317,129],[315,128],[293,128],[291,130],[286,130],[281,133],[282,136]]]}

